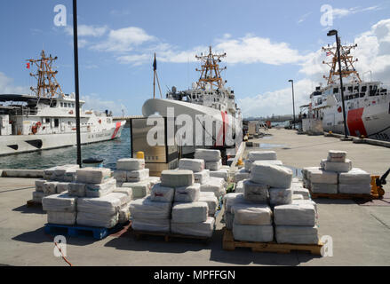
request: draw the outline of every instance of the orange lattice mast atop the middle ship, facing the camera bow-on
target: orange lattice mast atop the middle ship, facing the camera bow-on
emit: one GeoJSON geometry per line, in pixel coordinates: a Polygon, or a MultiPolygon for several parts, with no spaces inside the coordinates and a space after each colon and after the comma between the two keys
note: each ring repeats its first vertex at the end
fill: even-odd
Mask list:
{"type": "Polygon", "coordinates": [[[227,53],[223,54],[212,54],[211,46],[210,52],[208,55],[204,55],[201,53],[201,56],[195,55],[196,59],[202,61],[202,69],[196,68],[196,71],[201,72],[201,76],[199,81],[196,83],[196,89],[206,89],[206,85],[210,84],[211,90],[212,87],[222,88],[224,86],[224,81],[220,76],[220,72],[225,70],[227,67],[219,68],[219,62],[221,62],[221,58],[227,56],[227,53]]]}

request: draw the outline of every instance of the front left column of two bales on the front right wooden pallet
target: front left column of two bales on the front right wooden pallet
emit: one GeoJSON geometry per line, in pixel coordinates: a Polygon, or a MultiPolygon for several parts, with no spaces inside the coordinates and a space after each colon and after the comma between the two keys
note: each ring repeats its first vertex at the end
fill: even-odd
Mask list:
{"type": "Polygon", "coordinates": [[[237,241],[274,240],[272,210],[266,204],[235,204],[233,236],[237,241]]]}

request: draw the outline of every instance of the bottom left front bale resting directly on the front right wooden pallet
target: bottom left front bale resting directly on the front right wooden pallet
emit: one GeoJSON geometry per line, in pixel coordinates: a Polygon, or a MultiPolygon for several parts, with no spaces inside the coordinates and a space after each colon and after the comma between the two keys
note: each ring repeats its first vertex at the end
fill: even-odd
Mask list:
{"type": "Polygon", "coordinates": [[[233,236],[236,241],[260,241],[274,240],[273,225],[239,225],[233,222],[233,236]]]}

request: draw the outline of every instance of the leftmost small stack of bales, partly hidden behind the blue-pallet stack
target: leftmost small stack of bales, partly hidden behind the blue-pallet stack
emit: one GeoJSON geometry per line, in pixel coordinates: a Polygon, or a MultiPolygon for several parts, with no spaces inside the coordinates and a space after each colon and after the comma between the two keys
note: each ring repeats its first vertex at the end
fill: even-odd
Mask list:
{"type": "Polygon", "coordinates": [[[44,179],[36,180],[33,201],[42,203],[44,196],[67,191],[68,182],[75,180],[77,169],[78,165],[67,164],[44,170],[44,179]]]}

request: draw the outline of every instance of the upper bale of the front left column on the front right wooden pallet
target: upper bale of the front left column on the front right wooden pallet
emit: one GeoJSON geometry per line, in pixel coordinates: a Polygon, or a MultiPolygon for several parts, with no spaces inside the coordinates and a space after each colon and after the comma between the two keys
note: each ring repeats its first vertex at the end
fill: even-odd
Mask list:
{"type": "Polygon", "coordinates": [[[236,204],[232,213],[238,225],[272,225],[272,210],[266,204],[236,204]]]}

